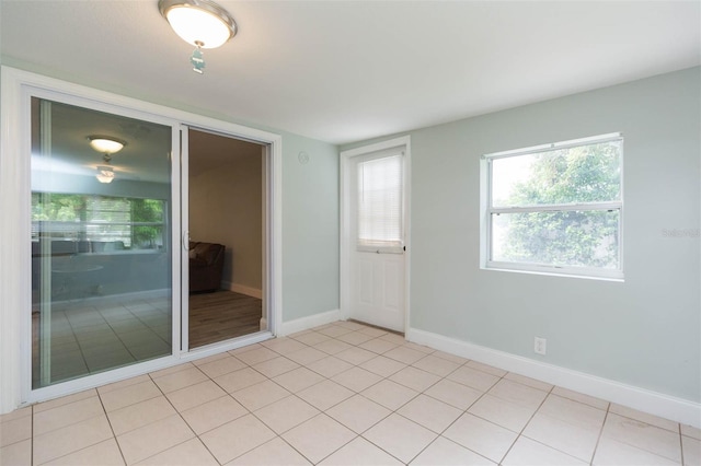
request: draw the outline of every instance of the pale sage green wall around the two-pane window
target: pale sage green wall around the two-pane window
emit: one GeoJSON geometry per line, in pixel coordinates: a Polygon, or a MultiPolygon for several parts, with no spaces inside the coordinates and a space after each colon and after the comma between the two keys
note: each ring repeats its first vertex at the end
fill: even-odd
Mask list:
{"type": "Polygon", "coordinates": [[[411,326],[701,400],[700,83],[693,68],[412,131],[411,326]],[[625,281],[481,270],[480,156],[616,131],[625,281]]]}

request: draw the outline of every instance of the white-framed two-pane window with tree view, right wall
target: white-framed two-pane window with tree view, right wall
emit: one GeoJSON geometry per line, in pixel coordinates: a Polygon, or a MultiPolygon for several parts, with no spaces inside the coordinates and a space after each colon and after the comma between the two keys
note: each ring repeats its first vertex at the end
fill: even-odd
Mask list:
{"type": "Polygon", "coordinates": [[[483,267],[622,278],[623,138],[483,156],[483,267]]]}

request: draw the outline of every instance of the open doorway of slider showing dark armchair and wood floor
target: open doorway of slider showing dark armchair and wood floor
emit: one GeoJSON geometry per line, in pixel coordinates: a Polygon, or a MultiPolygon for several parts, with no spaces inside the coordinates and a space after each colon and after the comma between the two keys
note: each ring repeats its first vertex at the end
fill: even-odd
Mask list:
{"type": "Polygon", "coordinates": [[[267,329],[268,147],[194,128],[183,129],[183,145],[192,350],[267,329]]]}

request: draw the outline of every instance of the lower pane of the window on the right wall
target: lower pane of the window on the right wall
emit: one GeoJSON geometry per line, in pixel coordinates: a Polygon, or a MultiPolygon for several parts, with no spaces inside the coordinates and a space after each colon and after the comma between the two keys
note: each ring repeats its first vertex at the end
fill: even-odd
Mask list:
{"type": "Polygon", "coordinates": [[[619,210],[492,215],[492,260],[619,268],[619,210]]]}

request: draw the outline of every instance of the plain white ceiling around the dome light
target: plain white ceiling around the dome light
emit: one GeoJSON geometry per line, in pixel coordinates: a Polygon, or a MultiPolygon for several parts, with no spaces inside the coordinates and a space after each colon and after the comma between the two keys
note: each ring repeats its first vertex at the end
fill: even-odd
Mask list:
{"type": "Polygon", "coordinates": [[[701,63],[700,1],[230,1],[205,51],[157,0],[0,0],[3,63],[342,144],[701,63]]]}

